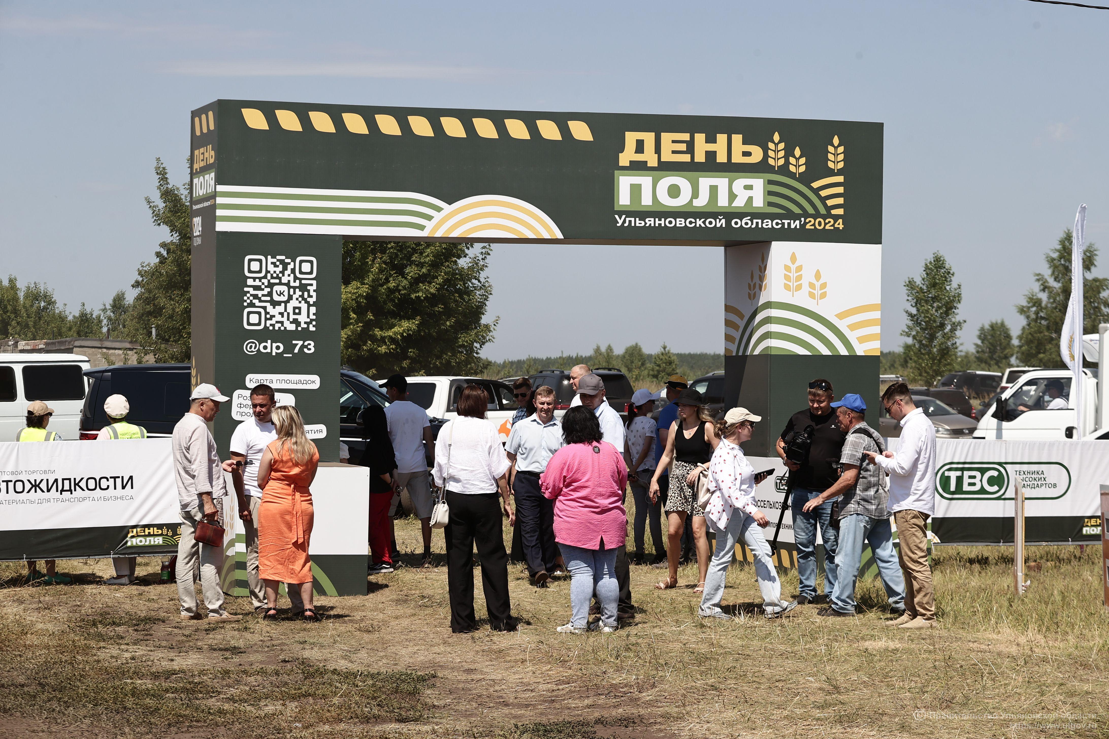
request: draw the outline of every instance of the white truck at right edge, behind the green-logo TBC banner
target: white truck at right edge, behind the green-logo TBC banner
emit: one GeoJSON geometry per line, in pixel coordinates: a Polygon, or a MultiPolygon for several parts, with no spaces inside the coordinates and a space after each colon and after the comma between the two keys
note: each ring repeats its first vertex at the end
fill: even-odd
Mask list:
{"type": "Polygon", "coordinates": [[[974,432],[975,439],[1109,439],[1109,408],[1098,370],[1105,366],[1109,342],[1103,340],[1109,324],[1098,333],[1082,337],[1082,356],[1098,368],[1082,369],[1082,428],[1071,403],[1074,373],[1069,369],[1039,369],[1025,372],[993,407],[986,409],[974,432]]]}

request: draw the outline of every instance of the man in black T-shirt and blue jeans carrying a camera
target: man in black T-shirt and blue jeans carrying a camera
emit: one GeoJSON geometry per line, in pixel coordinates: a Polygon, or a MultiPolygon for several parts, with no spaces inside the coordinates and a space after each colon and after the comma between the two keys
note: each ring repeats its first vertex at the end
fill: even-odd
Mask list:
{"type": "Polygon", "coordinates": [[[835,589],[835,552],[838,532],[833,527],[832,503],[803,511],[836,480],[835,463],[843,450],[844,433],[835,424],[832,383],[816,379],[808,383],[808,408],[790,417],[775,449],[790,469],[793,496],[793,541],[797,547],[797,575],[801,578],[798,604],[816,599],[816,526],[824,542],[824,593],[835,589]]]}

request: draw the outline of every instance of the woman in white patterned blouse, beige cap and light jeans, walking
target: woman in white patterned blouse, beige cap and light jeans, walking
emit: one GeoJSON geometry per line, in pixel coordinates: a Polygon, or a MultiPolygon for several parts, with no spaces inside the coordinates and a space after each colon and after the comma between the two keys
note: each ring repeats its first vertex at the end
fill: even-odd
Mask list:
{"type": "Polygon", "coordinates": [[[721,441],[709,463],[710,485],[714,492],[704,509],[705,522],[716,532],[716,551],[709,563],[704,595],[698,610],[704,618],[731,618],[721,610],[720,602],[724,597],[724,577],[732,553],[741,540],[755,560],[755,576],[766,618],[777,618],[797,605],[796,601],[786,603],[782,599],[782,583],[771,560],[770,544],[762,533],[770,521],[755,502],[755,485],[769,473],[756,475],[740,449],[740,444],[751,439],[755,422],[761,420],[761,415],[745,408],[733,408],[724,414],[723,422],[716,422],[716,435],[721,441]]]}

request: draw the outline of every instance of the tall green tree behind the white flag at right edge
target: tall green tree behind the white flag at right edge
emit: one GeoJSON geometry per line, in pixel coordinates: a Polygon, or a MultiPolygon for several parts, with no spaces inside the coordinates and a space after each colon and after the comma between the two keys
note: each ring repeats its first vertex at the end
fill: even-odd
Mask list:
{"type": "MultiPolygon", "coordinates": [[[[1025,292],[1017,312],[1025,326],[1017,337],[1017,361],[1028,367],[1062,367],[1059,333],[1070,302],[1070,229],[1062,232],[1056,246],[1044,255],[1047,274],[1036,273],[1036,288],[1025,292]]],[[[1098,324],[1109,322],[1109,278],[1089,277],[1098,263],[1098,250],[1087,244],[1082,252],[1082,332],[1095,333],[1098,324]]]]}

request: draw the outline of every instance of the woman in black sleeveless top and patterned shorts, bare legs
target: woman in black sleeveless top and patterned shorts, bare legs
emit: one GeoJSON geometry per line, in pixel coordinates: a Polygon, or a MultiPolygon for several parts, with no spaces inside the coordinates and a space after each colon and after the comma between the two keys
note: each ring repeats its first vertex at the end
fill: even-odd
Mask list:
{"type": "Polygon", "coordinates": [[[693,541],[696,545],[696,564],[700,571],[696,593],[704,592],[704,576],[709,572],[709,537],[705,534],[704,511],[696,504],[698,475],[708,473],[709,461],[720,443],[712,414],[704,406],[704,398],[692,388],[678,396],[678,420],[667,434],[667,449],[651,479],[651,500],[659,499],[659,476],[670,466],[670,492],[667,494],[667,564],[669,576],[655,587],[678,587],[678,558],[681,554],[682,530],[685,517],[693,516],[693,541]],[[671,465],[671,461],[673,465],[671,465]]]}

